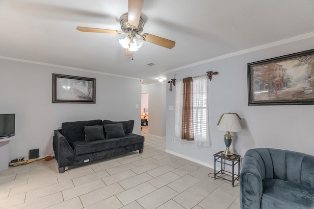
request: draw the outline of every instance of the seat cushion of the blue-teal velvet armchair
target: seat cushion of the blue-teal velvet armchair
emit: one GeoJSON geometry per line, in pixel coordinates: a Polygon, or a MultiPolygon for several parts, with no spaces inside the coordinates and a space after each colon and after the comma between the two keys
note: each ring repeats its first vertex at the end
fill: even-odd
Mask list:
{"type": "Polygon", "coordinates": [[[262,209],[309,209],[314,203],[314,190],[279,179],[264,179],[262,209]]]}

